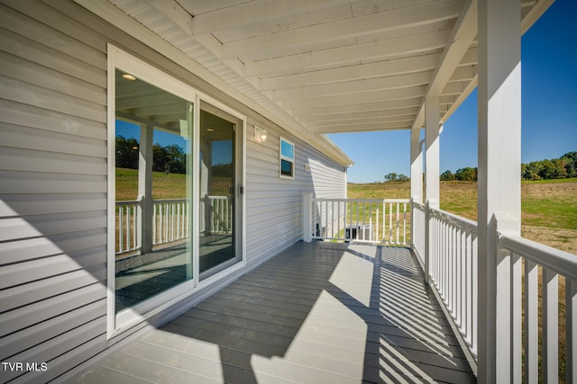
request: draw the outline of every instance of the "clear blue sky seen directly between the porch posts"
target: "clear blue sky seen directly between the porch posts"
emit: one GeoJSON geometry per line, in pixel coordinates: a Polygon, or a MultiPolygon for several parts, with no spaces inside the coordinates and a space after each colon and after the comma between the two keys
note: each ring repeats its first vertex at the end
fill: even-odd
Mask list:
{"type": "MultiPolygon", "coordinates": [[[[521,40],[521,161],[577,151],[577,1],[556,0],[521,40]]],[[[352,183],[410,174],[409,131],[328,135],[353,159],[352,183]]],[[[477,91],[444,123],[441,172],[477,166],[477,91]]]]}

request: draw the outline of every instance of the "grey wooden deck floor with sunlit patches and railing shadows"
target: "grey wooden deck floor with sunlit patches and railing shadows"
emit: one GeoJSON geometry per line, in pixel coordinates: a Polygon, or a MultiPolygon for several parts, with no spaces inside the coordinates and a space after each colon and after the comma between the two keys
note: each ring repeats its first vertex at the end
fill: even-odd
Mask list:
{"type": "Polygon", "coordinates": [[[298,243],[79,383],[475,382],[406,248],[298,243]]]}

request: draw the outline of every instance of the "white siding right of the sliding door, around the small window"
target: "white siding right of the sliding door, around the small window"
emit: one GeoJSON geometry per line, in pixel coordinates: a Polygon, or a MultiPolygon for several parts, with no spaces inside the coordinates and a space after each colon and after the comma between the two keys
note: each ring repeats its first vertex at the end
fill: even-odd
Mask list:
{"type": "Polygon", "coordinates": [[[285,131],[266,127],[267,141],[258,143],[252,129],[246,144],[246,248],[248,263],[259,263],[303,237],[303,193],[345,197],[346,169],[285,131]],[[294,180],[279,177],[280,136],[295,144],[294,180]]]}

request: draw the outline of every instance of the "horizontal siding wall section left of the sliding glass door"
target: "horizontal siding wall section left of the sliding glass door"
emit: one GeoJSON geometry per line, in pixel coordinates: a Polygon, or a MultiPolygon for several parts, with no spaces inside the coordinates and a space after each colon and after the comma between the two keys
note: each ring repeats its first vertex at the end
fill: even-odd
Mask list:
{"type": "Polygon", "coordinates": [[[0,382],[44,382],[60,355],[105,345],[105,40],[59,31],[67,20],[0,4],[0,354],[50,371],[0,382]]]}

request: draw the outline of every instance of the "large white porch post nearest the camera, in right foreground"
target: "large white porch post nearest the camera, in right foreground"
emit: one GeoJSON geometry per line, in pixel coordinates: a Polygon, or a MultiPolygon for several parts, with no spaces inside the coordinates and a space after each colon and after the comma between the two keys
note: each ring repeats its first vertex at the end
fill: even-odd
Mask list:
{"type": "MultiPolygon", "coordinates": [[[[520,1],[479,2],[479,382],[516,382],[511,369],[510,256],[498,230],[520,233],[520,1]]],[[[517,326],[517,325],[515,325],[517,326]]],[[[520,366],[520,362],[516,366],[520,366]]]]}

